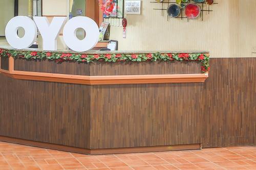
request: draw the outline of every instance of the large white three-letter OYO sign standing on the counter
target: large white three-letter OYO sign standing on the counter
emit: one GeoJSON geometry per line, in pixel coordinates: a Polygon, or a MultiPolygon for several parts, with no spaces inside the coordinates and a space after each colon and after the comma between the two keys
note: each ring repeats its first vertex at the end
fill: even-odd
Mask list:
{"type": "Polygon", "coordinates": [[[34,16],[33,19],[27,16],[16,16],[7,23],[5,36],[12,47],[17,49],[30,47],[36,40],[37,28],[42,36],[42,48],[46,51],[57,50],[57,37],[62,27],[64,27],[63,40],[71,50],[76,52],[91,50],[99,39],[97,23],[86,16],[74,17],[68,20],[66,25],[67,17],[53,17],[51,23],[46,17],[34,16]],[[22,38],[17,35],[19,28],[25,30],[22,38]],[[86,32],[86,37],[82,40],[76,37],[76,31],[79,28],[86,32]]]}

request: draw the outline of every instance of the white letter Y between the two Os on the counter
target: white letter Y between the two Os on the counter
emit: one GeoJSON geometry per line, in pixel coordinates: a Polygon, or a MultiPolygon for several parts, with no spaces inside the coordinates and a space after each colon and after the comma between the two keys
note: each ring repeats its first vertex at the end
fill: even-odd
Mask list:
{"type": "Polygon", "coordinates": [[[53,17],[51,24],[47,17],[34,16],[33,18],[42,36],[42,48],[47,51],[56,51],[57,37],[67,17],[53,17]]]}

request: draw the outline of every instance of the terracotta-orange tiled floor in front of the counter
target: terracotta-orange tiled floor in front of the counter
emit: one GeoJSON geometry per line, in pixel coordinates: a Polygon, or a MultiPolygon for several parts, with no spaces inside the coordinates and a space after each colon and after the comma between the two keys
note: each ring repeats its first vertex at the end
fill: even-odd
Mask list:
{"type": "Polygon", "coordinates": [[[89,156],[0,142],[5,169],[256,169],[256,147],[89,156]]]}

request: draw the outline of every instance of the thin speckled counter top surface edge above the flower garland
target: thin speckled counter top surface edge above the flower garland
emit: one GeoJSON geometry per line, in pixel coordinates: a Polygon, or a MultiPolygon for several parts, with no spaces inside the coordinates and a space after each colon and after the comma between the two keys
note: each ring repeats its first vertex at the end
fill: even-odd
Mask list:
{"type": "Polygon", "coordinates": [[[37,51],[37,52],[51,52],[51,53],[72,53],[72,54],[147,54],[147,53],[209,53],[208,51],[87,51],[87,52],[74,52],[72,50],[57,50],[57,51],[44,51],[39,48],[26,48],[23,50],[18,50],[12,48],[11,46],[0,46],[2,49],[6,50],[16,50],[16,51],[37,51]]]}

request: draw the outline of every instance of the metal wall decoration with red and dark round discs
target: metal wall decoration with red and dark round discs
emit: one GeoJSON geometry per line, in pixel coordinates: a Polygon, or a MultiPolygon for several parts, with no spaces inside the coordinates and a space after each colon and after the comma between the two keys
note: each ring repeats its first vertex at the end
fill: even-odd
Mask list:
{"type": "Polygon", "coordinates": [[[211,6],[218,4],[216,0],[155,0],[151,3],[156,3],[160,8],[154,10],[161,10],[162,16],[167,12],[167,20],[169,18],[180,18],[187,20],[197,19],[201,16],[204,20],[204,13],[212,12],[211,6]]]}

